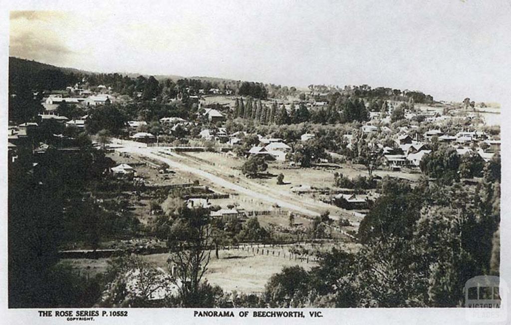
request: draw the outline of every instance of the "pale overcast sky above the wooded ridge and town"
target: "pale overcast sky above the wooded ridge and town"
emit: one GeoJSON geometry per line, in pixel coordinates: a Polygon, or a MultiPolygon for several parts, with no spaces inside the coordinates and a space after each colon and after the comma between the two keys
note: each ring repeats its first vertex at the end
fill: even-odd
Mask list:
{"type": "Polygon", "coordinates": [[[10,56],[99,72],[369,84],[458,101],[498,101],[509,89],[509,0],[60,3],[11,12],[10,56]]]}

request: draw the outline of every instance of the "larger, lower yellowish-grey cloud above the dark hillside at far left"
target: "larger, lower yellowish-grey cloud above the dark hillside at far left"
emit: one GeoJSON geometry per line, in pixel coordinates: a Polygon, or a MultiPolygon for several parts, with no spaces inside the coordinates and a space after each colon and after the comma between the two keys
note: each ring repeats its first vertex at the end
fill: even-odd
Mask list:
{"type": "Polygon", "coordinates": [[[75,53],[58,38],[36,35],[34,32],[11,35],[9,56],[59,63],[69,61],[73,55],[75,53]]]}

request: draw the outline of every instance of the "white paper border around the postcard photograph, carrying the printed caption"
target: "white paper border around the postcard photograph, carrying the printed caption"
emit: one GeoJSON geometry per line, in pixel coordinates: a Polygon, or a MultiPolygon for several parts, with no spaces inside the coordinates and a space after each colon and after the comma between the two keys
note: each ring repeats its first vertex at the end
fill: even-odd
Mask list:
{"type": "MultiPolygon", "coordinates": [[[[456,1],[456,0],[452,0],[456,1]]],[[[469,0],[467,0],[469,1],[469,0]]],[[[510,2],[510,0],[503,0],[510,2]]],[[[156,2],[152,2],[154,4],[156,2]]],[[[158,2],[162,7],[170,5],[164,2],[158,2]]],[[[140,3],[139,3],[140,5],[140,3]]],[[[391,5],[391,2],[389,3],[391,5]]],[[[56,323],[70,323],[65,319],[58,319],[55,317],[39,317],[37,310],[35,309],[7,309],[7,87],[8,87],[8,31],[9,31],[9,10],[64,10],[69,11],[74,8],[77,10],[84,10],[83,8],[95,8],[100,10],[111,10],[114,7],[136,7],[132,1],[109,1],[109,2],[69,2],[62,0],[55,1],[25,1],[20,4],[15,0],[9,0],[7,3],[0,2],[0,137],[2,137],[2,149],[0,149],[0,155],[2,159],[2,170],[0,171],[0,181],[2,182],[2,232],[0,232],[0,313],[2,314],[0,323],[27,323],[27,324],[56,324],[56,323]]],[[[510,2],[511,6],[511,2],[510,2]]],[[[234,15],[234,14],[233,14],[234,15]]],[[[409,17],[413,19],[413,17],[409,17]]],[[[511,20],[511,15],[509,17],[511,20]]],[[[487,22],[491,23],[491,21],[487,22]]],[[[511,43],[511,31],[509,31],[510,43],[511,43]]],[[[509,125],[511,124],[511,51],[509,53],[509,61],[501,62],[502,68],[507,69],[507,76],[510,76],[507,80],[499,80],[496,82],[507,84],[509,87],[509,93],[504,94],[504,98],[499,98],[501,101],[501,136],[502,136],[502,190],[501,190],[501,277],[507,280],[507,283],[511,283],[511,268],[509,267],[509,261],[511,256],[509,254],[509,247],[511,247],[511,236],[510,236],[510,223],[511,223],[511,187],[507,186],[510,184],[511,171],[509,169],[510,155],[511,155],[511,142],[508,141],[510,137],[509,125]],[[509,121],[509,122],[506,122],[509,121]]],[[[497,99],[497,98],[496,98],[497,99]]],[[[511,306],[509,301],[503,302],[508,307],[511,306]]],[[[318,309],[299,309],[308,313],[309,310],[318,309]]],[[[237,314],[239,310],[235,310],[237,314]]],[[[235,318],[197,318],[193,317],[193,309],[129,309],[128,318],[96,318],[94,323],[108,323],[108,324],[126,324],[126,323],[144,323],[144,324],[189,324],[189,323],[226,323],[226,324],[238,324],[243,323],[260,323],[260,322],[271,322],[279,324],[288,323],[350,323],[350,324],[368,324],[368,323],[381,323],[381,324],[465,324],[467,320],[465,318],[465,310],[462,308],[450,308],[450,309],[437,309],[437,308],[407,308],[407,309],[322,309],[323,318],[246,318],[240,317],[235,318]]],[[[80,322],[82,323],[82,322],[80,322]]],[[[511,323],[511,320],[507,320],[506,324],[511,323]]]]}

